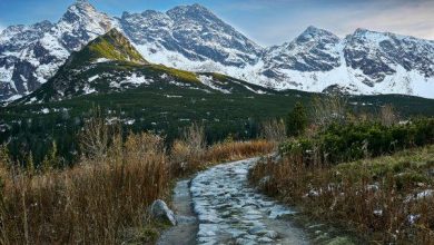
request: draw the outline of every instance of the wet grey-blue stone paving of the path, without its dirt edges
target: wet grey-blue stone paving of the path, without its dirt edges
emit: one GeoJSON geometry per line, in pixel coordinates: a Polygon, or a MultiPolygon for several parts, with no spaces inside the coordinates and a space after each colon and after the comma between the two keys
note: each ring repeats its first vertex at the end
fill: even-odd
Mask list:
{"type": "Polygon", "coordinates": [[[247,184],[258,158],[199,173],[190,193],[198,217],[197,244],[308,244],[302,229],[280,219],[293,210],[258,194],[247,184]]]}

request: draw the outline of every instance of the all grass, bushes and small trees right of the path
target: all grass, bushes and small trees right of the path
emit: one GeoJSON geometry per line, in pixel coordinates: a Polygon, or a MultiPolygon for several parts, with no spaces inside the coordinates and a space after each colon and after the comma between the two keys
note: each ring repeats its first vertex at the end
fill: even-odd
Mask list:
{"type": "Polygon", "coordinates": [[[354,116],[329,101],[317,101],[307,128],[294,108],[293,134],[249,170],[250,183],[357,243],[433,243],[433,118],[398,120],[391,106],[354,116]],[[343,114],[325,120],[319,108],[343,114]]]}

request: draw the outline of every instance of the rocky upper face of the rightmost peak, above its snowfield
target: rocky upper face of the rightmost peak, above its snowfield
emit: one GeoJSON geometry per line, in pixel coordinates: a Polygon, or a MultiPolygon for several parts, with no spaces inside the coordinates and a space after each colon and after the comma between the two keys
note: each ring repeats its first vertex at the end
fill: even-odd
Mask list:
{"type": "Polygon", "coordinates": [[[357,29],[346,38],[345,60],[364,74],[368,86],[382,82],[398,71],[418,71],[426,78],[434,76],[434,45],[432,41],[357,29]]]}

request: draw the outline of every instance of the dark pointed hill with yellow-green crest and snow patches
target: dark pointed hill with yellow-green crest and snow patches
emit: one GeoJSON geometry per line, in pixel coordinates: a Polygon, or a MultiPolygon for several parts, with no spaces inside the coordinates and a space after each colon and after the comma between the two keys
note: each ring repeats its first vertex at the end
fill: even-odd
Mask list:
{"type": "Polygon", "coordinates": [[[179,89],[204,94],[275,94],[219,74],[190,72],[148,62],[116,28],[73,51],[57,74],[14,104],[40,104],[90,94],[116,94],[146,87],[166,92],[179,89]]]}

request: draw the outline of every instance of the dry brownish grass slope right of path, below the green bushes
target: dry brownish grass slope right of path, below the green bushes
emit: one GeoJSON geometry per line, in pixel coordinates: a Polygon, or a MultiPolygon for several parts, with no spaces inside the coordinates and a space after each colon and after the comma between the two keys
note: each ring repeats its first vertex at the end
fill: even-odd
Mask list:
{"type": "Polygon", "coordinates": [[[293,155],[258,164],[249,179],[314,217],[372,244],[434,243],[434,146],[338,166],[293,155]],[[432,194],[422,197],[424,192],[432,194]]]}

